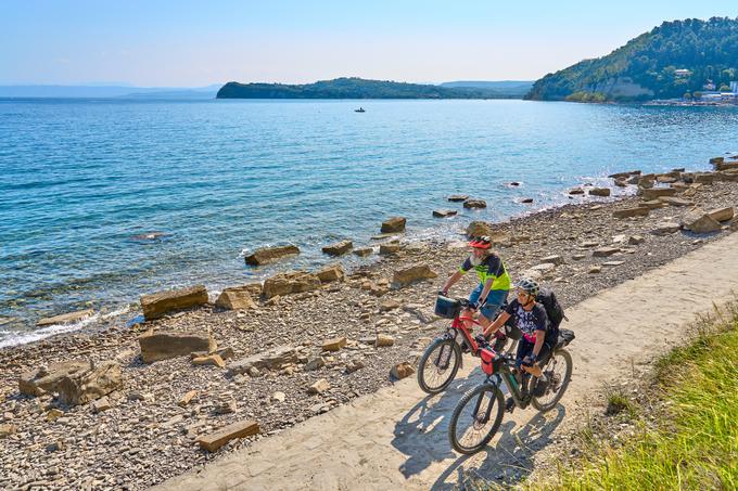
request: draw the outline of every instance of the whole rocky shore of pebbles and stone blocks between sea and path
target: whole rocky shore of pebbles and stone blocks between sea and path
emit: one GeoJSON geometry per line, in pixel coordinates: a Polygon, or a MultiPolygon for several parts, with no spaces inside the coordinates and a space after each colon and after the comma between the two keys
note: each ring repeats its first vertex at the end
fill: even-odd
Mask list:
{"type": "MultiPolygon", "coordinates": [[[[613,184],[637,185],[640,195],[475,222],[470,232],[493,236],[513,277],[539,276],[572,306],[735,230],[727,209],[738,204],[738,176],[729,163],[715,166],[626,172],[613,184]]],[[[237,310],[205,303],[0,350],[0,488],[144,489],[392,384],[391,371],[407,375],[400,364],[411,366],[444,326],[433,315],[435,292],[467,256],[466,241],[400,240],[385,253],[316,289],[253,296],[237,310]],[[403,276],[409,268],[425,279],[403,276]],[[139,337],[168,332],[199,333],[204,352],[144,363],[139,337]],[[92,372],[117,366],[119,377],[105,369],[104,383],[77,382],[66,396],[21,393],[29,374],[38,380],[73,360],[92,372]],[[79,397],[105,384],[109,393],[79,397]],[[257,428],[243,426],[243,438],[202,443],[251,422],[257,428]]],[[[468,294],[474,281],[467,275],[451,293],[468,294]]]]}

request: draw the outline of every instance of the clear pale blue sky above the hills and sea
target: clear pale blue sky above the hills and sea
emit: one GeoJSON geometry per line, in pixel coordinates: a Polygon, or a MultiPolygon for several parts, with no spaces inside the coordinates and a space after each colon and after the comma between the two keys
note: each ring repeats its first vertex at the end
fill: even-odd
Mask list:
{"type": "Polygon", "coordinates": [[[0,85],[535,79],[734,2],[0,0],[0,85]]]}

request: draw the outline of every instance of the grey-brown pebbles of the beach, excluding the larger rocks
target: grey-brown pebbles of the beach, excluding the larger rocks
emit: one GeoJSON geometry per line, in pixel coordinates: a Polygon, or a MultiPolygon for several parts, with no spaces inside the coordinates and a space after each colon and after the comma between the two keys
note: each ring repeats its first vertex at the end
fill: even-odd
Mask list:
{"type": "MultiPolygon", "coordinates": [[[[735,206],[737,188],[735,182],[715,182],[702,186],[694,199],[707,209],[735,206]]],[[[564,205],[495,224],[496,233],[529,237],[510,241],[499,248],[500,254],[513,277],[539,264],[546,256],[561,256],[564,262],[550,271],[545,283],[555,288],[567,308],[729,233],[723,230],[700,236],[684,232],[651,234],[658,223],[684,214],[677,207],[657,208],[644,218],[612,218],[612,210],[638,202],[638,197],[628,196],[564,205]],[[645,243],[615,243],[623,250],[609,258],[594,258],[591,247],[582,246],[586,242],[610,246],[613,236],[620,235],[626,241],[628,236],[640,235],[645,243]],[[575,260],[574,255],[585,257],[575,260]],[[599,273],[588,272],[593,266],[613,259],[624,262],[602,267],[599,273]]],[[[86,483],[145,488],[249,444],[249,439],[236,440],[209,454],[200,451],[195,443],[202,432],[247,417],[258,421],[262,427],[263,436],[256,438],[268,438],[313,414],[391,385],[390,367],[422,351],[441,331],[443,323],[427,323],[433,319],[434,292],[458,268],[466,256],[465,244],[410,243],[395,257],[382,257],[373,264],[357,268],[344,283],[329,283],[317,292],[285,296],[278,305],[259,305],[256,310],[220,312],[207,306],[131,327],[111,322],[100,332],[76,332],[0,349],[3,423],[18,426],[18,432],[2,440],[8,451],[0,457],[0,467],[4,469],[0,486],[13,488],[42,480],[47,486],[73,488],[86,483]],[[361,287],[367,281],[391,279],[394,270],[413,263],[428,264],[438,277],[390,290],[381,297],[361,287]],[[397,307],[383,311],[389,300],[394,300],[397,307]],[[187,357],[142,364],[137,336],[151,327],[209,328],[219,347],[236,351],[234,359],[283,345],[302,346],[305,356],[313,357],[320,352],[325,339],[334,336],[345,335],[349,344],[336,356],[327,357],[332,360],[314,372],[295,366],[266,371],[254,378],[228,378],[220,369],[192,366],[187,357]],[[393,336],[394,346],[374,348],[361,340],[377,333],[393,336]],[[80,357],[118,360],[125,388],[111,398],[113,408],[103,413],[92,413],[88,406],[64,408],[62,417],[47,422],[44,415],[56,408],[51,397],[20,396],[17,377],[40,364],[80,357]],[[345,374],[346,364],[356,360],[361,360],[364,367],[345,374]],[[322,396],[308,396],[306,389],[320,378],[328,379],[331,389],[322,396]],[[199,397],[189,406],[180,408],[177,401],[189,390],[198,390],[199,397]],[[275,399],[275,392],[283,392],[284,401],[275,399]],[[236,401],[236,412],[215,415],[214,409],[222,400],[236,401]],[[49,443],[59,440],[65,441],[66,450],[46,450],[49,443]],[[24,458],[28,458],[24,467],[18,467],[24,458]],[[98,478],[98,466],[90,464],[91,458],[107,464],[106,476],[98,478]]],[[[466,295],[473,283],[474,279],[467,275],[453,294],[466,295]]]]}

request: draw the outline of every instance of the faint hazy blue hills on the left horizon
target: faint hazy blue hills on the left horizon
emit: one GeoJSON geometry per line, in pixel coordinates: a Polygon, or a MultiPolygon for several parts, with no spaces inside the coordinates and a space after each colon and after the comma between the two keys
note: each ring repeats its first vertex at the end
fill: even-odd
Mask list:
{"type": "Polygon", "coordinates": [[[219,87],[0,86],[0,98],[214,99],[219,87]]]}

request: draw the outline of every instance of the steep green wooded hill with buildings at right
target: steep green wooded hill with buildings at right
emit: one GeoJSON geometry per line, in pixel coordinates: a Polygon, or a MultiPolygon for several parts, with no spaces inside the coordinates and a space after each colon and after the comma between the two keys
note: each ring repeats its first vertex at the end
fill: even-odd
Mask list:
{"type": "Polygon", "coordinates": [[[738,20],[665,22],[607,56],[584,60],[537,80],[525,99],[644,101],[717,89],[738,77],[738,20]]]}

